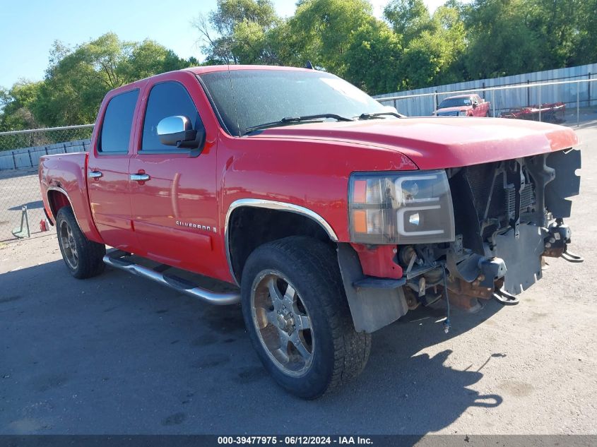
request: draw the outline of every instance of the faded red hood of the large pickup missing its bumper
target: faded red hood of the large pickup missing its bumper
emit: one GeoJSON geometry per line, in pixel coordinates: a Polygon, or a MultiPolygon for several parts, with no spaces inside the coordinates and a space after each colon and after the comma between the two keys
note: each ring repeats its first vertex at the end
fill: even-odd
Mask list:
{"type": "Polygon", "coordinates": [[[510,160],[572,148],[579,143],[577,134],[564,126],[465,117],[326,121],[266,129],[245,138],[343,141],[375,146],[406,155],[420,169],[510,160]]]}

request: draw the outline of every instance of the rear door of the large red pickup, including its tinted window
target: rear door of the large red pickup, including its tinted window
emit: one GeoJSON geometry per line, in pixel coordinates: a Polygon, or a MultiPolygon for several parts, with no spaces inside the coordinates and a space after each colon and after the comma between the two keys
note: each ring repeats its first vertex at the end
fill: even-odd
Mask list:
{"type": "Polygon", "coordinates": [[[110,98],[87,172],[89,201],[97,230],[106,244],[126,251],[132,251],[136,244],[131,227],[129,162],[138,97],[139,90],[134,89],[110,98]]]}

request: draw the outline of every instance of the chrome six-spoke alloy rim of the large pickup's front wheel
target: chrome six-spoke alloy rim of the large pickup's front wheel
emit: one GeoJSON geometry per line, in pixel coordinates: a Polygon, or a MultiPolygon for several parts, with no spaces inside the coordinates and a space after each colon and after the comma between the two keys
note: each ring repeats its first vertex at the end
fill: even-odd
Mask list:
{"type": "Polygon", "coordinates": [[[313,362],[315,339],[311,318],[288,278],[264,270],[251,290],[253,324],[265,352],[278,369],[302,376],[313,362]]]}

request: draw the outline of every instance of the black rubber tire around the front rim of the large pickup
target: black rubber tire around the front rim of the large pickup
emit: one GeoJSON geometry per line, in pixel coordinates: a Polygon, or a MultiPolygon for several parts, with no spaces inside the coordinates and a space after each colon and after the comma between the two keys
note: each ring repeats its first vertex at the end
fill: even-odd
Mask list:
{"type": "MultiPolygon", "coordinates": [[[[309,237],[287,237],[259,246],[249,256],[242,271],[241,292],[244,323],[252,344],[269,374],[290,393],[305,399],[319,398],[355,378],[365,368],[371,350],[371,335],[355,331],[336,253],[330,246],[309,237]],[[273,359],[271,350],[268,353],[264,333],[266,330],[281,333],[275,323],[270,323],[268,317],[267,321],[261,318],[261,324],[267,326],[258,328],[260,320],[254,303],[256,297],[266,295],[257,291],[260,281],[271,272],[280,273],[283,278],[279,281],[293,287],[292,292],[298,297],[295,302],[304,305],[305,314],[310,318],[312,331],[307,330],[307,335],[312,340],[311,359],[304,373],[287,372],[273,359]],[[270,326],[273,329],[268,329],[270,326]]],[[[271,298],[271,292],[268,294],[271,298]]],[[[259,313],[262,311],[259,307],[259,313]]],[[[276,309],[267,314],[274,311],[276,309]]],[[[297,315],[294,318],[297,319],[297,315]]],[[[288,330],[292,333],[292,328],[288,330]]],[[[305,334],[304,330],[301,332],[305,334]]],[[[302,337],[307,340],[306,335],[302,337]]],[[[287,350],[292,350],[292,342],[287,343],[287,350]]],[[[283,342],[280,342],[280,349],[282,346],[283,342]]]]}

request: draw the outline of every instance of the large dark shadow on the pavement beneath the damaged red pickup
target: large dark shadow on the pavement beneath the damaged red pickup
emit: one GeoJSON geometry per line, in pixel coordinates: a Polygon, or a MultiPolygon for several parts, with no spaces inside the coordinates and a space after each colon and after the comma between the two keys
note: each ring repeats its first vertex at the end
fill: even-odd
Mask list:
{"type": "MultiPolygon", "coordinates": [[[[359,379],[315,401],[292,398],[259,363],[239,306],[196,302],[115,270],[75,280],[62,261],[0,275],[2,434],[425,434],[500,395],[481,371],[425,347],[500,308],[415,311],[374,334],[359,379]]],[[[494,354],[495,357],[500,354],[494,354]]],[[[489,357],[488,361],[492,358],[489,357]]]]}

